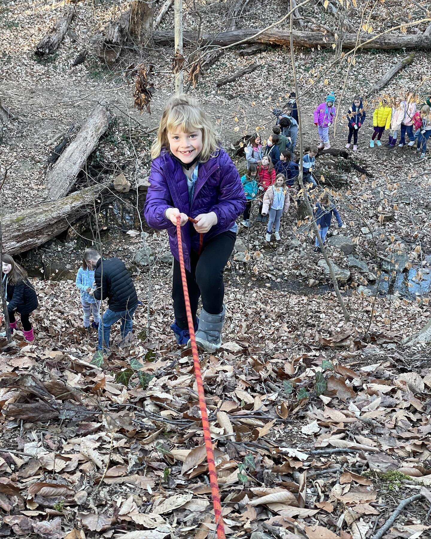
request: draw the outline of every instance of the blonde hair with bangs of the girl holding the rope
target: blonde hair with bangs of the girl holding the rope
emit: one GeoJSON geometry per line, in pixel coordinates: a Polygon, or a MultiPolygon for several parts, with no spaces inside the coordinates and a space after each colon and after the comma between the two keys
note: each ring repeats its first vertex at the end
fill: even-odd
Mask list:
{"type": "Polygon", "coordinates": [[[170,151],[168,131],[176,129],[192,133],[197,129],[202,132],[202,151],[199,161],[205,162],[213,157],[220,148],[220,140],[202,106],[190,95],[175,95],[166,102],[158,127],[157,138],[151,146],[151,158],[155,159],[162,149],[170,151]]]}

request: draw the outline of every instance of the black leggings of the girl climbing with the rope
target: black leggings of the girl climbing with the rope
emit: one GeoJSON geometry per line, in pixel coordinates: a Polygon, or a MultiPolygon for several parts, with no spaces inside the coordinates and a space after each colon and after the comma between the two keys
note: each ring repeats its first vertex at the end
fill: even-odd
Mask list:
{"type": "MultiPolygon", "coordinates": [[[[196,323],[199,296],[202,298],[202,306],[207,313],[220,314],[223,310],[225,297],[223,271],[232,254],[236,239],[237,234],[234,232],[222,232],[208,241],[200,253],[200,257],[195,252],[191,253],[191,271],[186,270],[186,279],[193,323],[196,323]]],[[[183,284],[179,262],[176,258],[173,260],[172,300],[173,312],[178,326],[181,329],[187,329],[183,284]]]]}

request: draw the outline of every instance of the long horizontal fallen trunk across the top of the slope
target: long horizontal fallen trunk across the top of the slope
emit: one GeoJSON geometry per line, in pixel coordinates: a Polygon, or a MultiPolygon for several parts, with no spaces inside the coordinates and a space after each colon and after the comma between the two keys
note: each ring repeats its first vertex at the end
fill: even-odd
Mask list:
{"type": "MultiPolygon", "coordinates": [[[[219,45],[225,47],[228,45],[234,45],[242,40],[246,40],[248,43],[270,43],[273,45],[290,46],[290,33],[283,30],[266,30],[260,33],[258,36],[255,34],[262,32],[262,29],[245,28],[241,30],[231,30],[228,32],[220,32],[218,34],[204,34],[200,42],[200,46],[204,45],[219,45]]],[[[154,33],[154,42],[157,45],[172,45],[173,44],[173,32],[170,30],[158,30],[154,33]]],[[[296,47],[304,47],[306,49],[310,47],[331,47],[333,38],[324,34],[323,32],[301,32],[293,31],[293,44],[296,47]]],[[[367,35],[367,41],[372,39],[373,34],[367,35]]],[[[183,33],[184,45],[196,45],[197,36],[191,32],[183,33]]],[[[348,33],[343,36],[343,49],[354,49],[356,46],[357,34],[348,33]]],[[[430,50],[431,49],[431,36],[424,36],[423,34],[385,34],[378,36],[369,43],[359,43],[357,49],[414,49],[414,50],[430,50]]]]}

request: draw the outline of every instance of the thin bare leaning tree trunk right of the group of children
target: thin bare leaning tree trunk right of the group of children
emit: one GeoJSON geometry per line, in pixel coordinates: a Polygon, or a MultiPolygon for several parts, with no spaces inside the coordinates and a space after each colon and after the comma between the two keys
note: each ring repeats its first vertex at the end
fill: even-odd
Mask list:
{"type": "MultiPolygon", "coordinates": [[[[293,8],[293,0],[290,0],[290,9],[292,9],[292,8],[293,8]]],[[[293,27],[293,13],[291,13],[291,15],[290,15],[290,59],[291,59],[291,63],[292,63],[293,78],[294,78],[294,83],[295,83],[295,93],[296,93],[297,96],[299,96],[301,94],[299,93],[298,80],[297,80],[297,77],[296,77],[295,57],[294,57],[294,51],[293,51],[292,27],[293,27]]],[[[323,245],[323,241],[322,241],[321,235],[319,233],[319,229],[318,229],[316,221],[314,219],[313,210],[311,208],[311,204],[310,204],[310,201],[308,199],[308,192],[307,192],[307,189],[305,189],[305,187],[304,187],[304,182],[302,181],[302,172],[303,172],[303,169],[302,169],[302,156],[304,154],[303,154],[303,141],[302,141],[302,121],[301,121],[300,101],[301,101],[301,98],[299,98],[296,101],[297,107],[298,107],[298,125],[299,125],[298,132],[299,132],[299,136],[300,136],[299,137],[300,138],[300,171],[299,171],[299,175],[298,175],[298,181],[300,183],[301,189],[302,189],[303,194],[304,194],[304,202],[305,202],[305,206],[307,208],[307,213],[308,213],[308,215],[310,217],[310,223],[311,223],[312,229],[314,230],[314,233],[316,234],[317,240],[319,242],[319,246],[320,246],[322,254],[323,254],[323,258],[325,259],[325,262],[326,262],[326,264],[328,265],[328,268],[329,268],[329,274],[331,275],[333,289],[335,290],[335,293],[337,294],[338,301],[339,301],[340,306],[341,306],[341,308],[343,310],[344,319],[346,320],[346,322],[349,322],[350,321],[350,316],[349,316],[349,313],[347,312],[346,306],[344,305],[343,298],[342,298],[342,296],[340,294],[340,291],[339,291],[339,288],[338,288],[338,282],[337,282],[337,279],[335,277],[335,273],[333,272],[332,263],[331,263],[330,259],[328,258],[328,255],[326,254],[326,250],[325,250],[325,247],[323,245]]]]}

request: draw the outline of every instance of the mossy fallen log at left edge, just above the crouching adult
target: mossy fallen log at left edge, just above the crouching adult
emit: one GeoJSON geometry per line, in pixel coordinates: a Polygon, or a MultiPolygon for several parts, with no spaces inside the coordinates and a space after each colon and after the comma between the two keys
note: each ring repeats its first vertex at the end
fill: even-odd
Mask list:
{"type": "Polygon", "coordinates": [[[96,185],[55,202],[45,202],[3,218],[3,252],[22,253],[43,245],[65,231],[70,223],[93,209],[94,198],[105,189],[96,185]]]}

